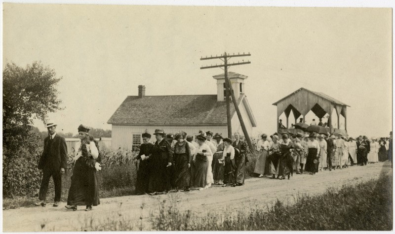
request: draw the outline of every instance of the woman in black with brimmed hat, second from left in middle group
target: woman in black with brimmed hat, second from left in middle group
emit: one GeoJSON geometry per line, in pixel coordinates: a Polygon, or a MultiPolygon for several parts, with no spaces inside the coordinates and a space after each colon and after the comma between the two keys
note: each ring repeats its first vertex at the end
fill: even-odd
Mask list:
{"type": "Polygon", "coordinates": [[[163,138],[166,135],[163,129],[155,130],[154,135],[157,141],[152,147],[150,156],[152,173],[148,183],[148,191],[150,195],[166,194],[171,189],[169,168],[172,165],[173,152],[169,142],[163,138]]]}

